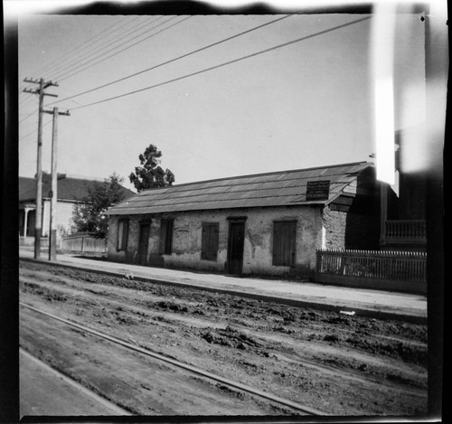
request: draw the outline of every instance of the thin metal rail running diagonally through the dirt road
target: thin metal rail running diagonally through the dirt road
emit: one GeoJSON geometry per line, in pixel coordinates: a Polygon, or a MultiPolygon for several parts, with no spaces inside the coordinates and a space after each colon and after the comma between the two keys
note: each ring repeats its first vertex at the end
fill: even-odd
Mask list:
{"type": "Polygon", "coordinates": [[[214,374],[212,372],[206,372],[206,371],[204,371],[204,370],[202,370],[200,368],[193,367],[192,365],[189,365],[187,363],[182,363],[182,362],[177,361],[177,360],[175,360],[173,358],[166,357],[165,355],[163,355],[161,353],[152,352],[149,349],[142,348],[142,347],[137,346],[135,344],[130,344],[130,343],[124,341],[124,340],[118,339],[117,337],[113,337],[113,336],[111,336],[109,334],[105,334],[105,333],[99,332],[98,330],[94,330],[94,329],[89,328],[89,327],[87,327],[85,325],[80,325],[80,324],[74,323],[74,322],[69,321],[67,319],[61,318],[60,316],[54,316],[54,315],[52,315],[52,314],[50,314],[48,312],[42,311],[41,309],[38,309],[38,308],[36,308],[34,306],[26,305],[23,302],[19,302],[19,305],[22,306],[22,307],[28,308],[28,309],[30,309],[30,310],[38,313],[38,314],[42,314],[43,316],[50,317],[53,320],[59,321],[59,322],[65,324],[65,325],[70,325],[71,327],[77,328],[78,330],[83,331],[83,332],[85,332],[87,334],[92,334],[92,335],[95,335],[95,336],[97,336],[99,338],[108,340],[109,342],[111,342],[113,344],[121,345],[122,347],[125,347],[128,350],[130,350],[130,351],[145,354],[146,356],[151,357],[151,358],[153,358],[155,360],[161,361],[163,363],[169,363],[169,364],[174,365],[174,366],[176,366],[176,367],[178,367],[180,369],[183,369],[185,372],[191,372],[191,373],[193,373],[196,376],[201,376],[201,377],[207,378],[207,379],[211,380],[212,382],[219,382],[219,383],[224,384],[226,386],[229,386],[229,387],[231,387],[233,389],[236,389],[236,390],[239,390],[239,391],[243,391],[245,393],[251,394],[253,396],[257,396],[257,397],[259,397],[261,399],[264,399],[264,400],[269,400],[269,401],[271,401],[273,403],[282,405],[284,407],[291,408],[293,410],[297,410],[297,411],[302,412],[302,413],[304,413],[306,415],[311,415],[311,416],[323,416],[323,415],[325,416],[326,415],[325,412],[323,412],[323,411],[315,410],[315,409],[306,407],[305,405],[301,405],[301,404],[299,404],[297,402],[293,402],[291,400],[286,400],[286,399],[280,398],[280,397],[275,396],[275,395],[273,395],[271,393],[268,393],[266,391],[260,391],[259,389],[253,388],[253,387],[251,387],[249,385],[246,385],[246,384],[243,384],[241,382],[234,382],[234,381],[232,381],[230,379],[226,379],[226,378],[221,377],[219,375],[216,375],[216,374],[214,374]]]}

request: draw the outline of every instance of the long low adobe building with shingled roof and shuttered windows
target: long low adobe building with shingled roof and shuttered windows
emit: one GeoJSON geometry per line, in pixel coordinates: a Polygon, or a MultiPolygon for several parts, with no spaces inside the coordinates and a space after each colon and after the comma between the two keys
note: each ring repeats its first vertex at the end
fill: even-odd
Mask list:
{"type": "Polygon", "coordinates": [[[108,259],[228,274],[315,272],[317,249],[379,247],[372,163],[142,191],[108,209],[108,259]]]}

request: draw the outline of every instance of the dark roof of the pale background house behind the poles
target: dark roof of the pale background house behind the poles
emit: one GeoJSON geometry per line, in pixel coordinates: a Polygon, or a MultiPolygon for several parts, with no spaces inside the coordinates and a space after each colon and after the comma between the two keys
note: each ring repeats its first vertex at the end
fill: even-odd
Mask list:
{"type": "MultiPolygon", "coordinates": [[[[98,180],[89,180],[87,178],[77,178],[71,176],[59,175],[57,180],[57,198],[64,201],[80,201],[88,194],[89,184],[103,184],[98,180]]],[[[49,174],[42,174],[42,197],[50,197],[52,190],[52,179],[49,174]]],[[[131,190],[122,187],[127,197],[133,194],[131,190]]],[[[35,202],[36,200],[36,179],[20,176],[19,177],[19,202],[35,202]]]]}

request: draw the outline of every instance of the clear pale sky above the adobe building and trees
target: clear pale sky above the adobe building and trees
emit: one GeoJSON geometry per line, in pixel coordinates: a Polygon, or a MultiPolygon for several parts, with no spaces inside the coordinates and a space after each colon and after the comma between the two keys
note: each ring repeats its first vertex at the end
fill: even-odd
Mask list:
{"type": "MultiPolygon", "coordinates": [[[[373,19],[21,14],[19,174],[36,173],[38,96],[23,90],[37,85],[25,78],[58,83],[46,89],[58,98],[45,96],[44,109],[71,114],[58,119],[59,173],[104,179],[115,172],[133,188],[128,175],[149,144],[162,151],[175,184],[370,161],[373,19]]],[[[425,119],[420,14],[397,15],[393,41],[399,129],[425,119]]],[[[42,143],[42,170],[50,172],[50,114],[43,114],[42,143]]]]}

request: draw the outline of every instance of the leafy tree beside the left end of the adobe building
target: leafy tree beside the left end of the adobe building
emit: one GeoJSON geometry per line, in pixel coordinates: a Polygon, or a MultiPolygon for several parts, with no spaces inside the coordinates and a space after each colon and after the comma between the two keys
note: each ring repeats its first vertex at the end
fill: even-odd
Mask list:
{"type": "Polygon", "coordinates": [[[105,239],[108,233],[108,216],[105,212],[126,196],[121,186],[123,181],[124,178],[113,173],[103,183],[90,183],[88,193],[74,206],[72,230],[86,231],[98,239],[105,239]]]}

